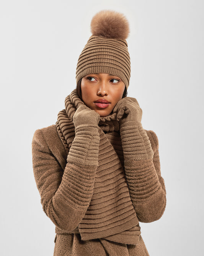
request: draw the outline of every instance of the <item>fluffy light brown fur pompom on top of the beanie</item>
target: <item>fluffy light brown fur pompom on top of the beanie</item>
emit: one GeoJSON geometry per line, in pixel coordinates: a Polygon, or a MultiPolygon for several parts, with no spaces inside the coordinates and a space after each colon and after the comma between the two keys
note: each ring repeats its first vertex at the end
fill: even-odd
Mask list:
{"type": "Polygon", "coordinates": [[[125,40],[129,35],[127,18],[119,12],[103,10],[91,20],[92,35],[125,40]]]}

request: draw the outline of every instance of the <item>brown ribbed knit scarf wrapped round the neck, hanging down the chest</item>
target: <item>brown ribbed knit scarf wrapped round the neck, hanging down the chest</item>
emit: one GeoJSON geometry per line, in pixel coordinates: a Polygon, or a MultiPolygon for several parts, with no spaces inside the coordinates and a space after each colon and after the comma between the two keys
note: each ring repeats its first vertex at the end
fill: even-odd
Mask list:
{"type": "MultiPolygon", "coordinates": [[[[57,116],[57,132],[67,154],[75,138],[73,115],[82,104],[84,102],[74,89],[65,98],[65,109],[59,111],[57,116]]],[[[95,174],[93,196],[77,230],[82,240],[105,238],[137,244],[141,232],[124,171],[118,122],[122,117],[117,116],[116,119],[116,116],[117,112],[100,117],[99,166],[95,174]]]]}

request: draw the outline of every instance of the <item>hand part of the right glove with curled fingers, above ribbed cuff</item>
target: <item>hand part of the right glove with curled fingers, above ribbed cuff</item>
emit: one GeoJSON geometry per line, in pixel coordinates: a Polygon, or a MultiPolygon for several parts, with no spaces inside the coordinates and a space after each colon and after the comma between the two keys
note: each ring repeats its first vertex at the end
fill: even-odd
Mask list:
{"type": "Polygon", "coordinates": [[[126,121],[137,121],[141,123],[142,109],[135,98],[125,97],[119,100],[113,109],[113,112],[116,111],[118,112],[116,118],[120,125],[126,121]]]}

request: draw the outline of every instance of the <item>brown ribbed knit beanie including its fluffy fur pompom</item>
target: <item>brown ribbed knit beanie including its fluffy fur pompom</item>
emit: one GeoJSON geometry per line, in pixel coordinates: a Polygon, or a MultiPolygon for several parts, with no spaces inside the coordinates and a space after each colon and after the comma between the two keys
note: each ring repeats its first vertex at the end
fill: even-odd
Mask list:
{"type": "Polygon", "coordinates": [[[129,86],[131,63],[126,38],[129,23],[122,13],[103,10],[91,20],[91,37],[78,58],[76,80],[93,73],[118,76],[129,86]]]}

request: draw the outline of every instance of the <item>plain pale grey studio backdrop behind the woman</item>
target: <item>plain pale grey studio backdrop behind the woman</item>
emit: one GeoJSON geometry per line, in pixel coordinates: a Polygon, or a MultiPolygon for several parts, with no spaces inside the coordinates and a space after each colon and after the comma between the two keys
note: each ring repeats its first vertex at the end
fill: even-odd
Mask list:
{"type": "Polygon", "coordinates": [[[147,250],[203,255],[204,2],[7,0],[0,3],[2,256],[53,255],[55,226],[40,203],[31,141],[64,109],[91,18],[104,9],[129,20],[127,96],[159,140],[167,203],[158,221],[140,223],[147,250]]]}

